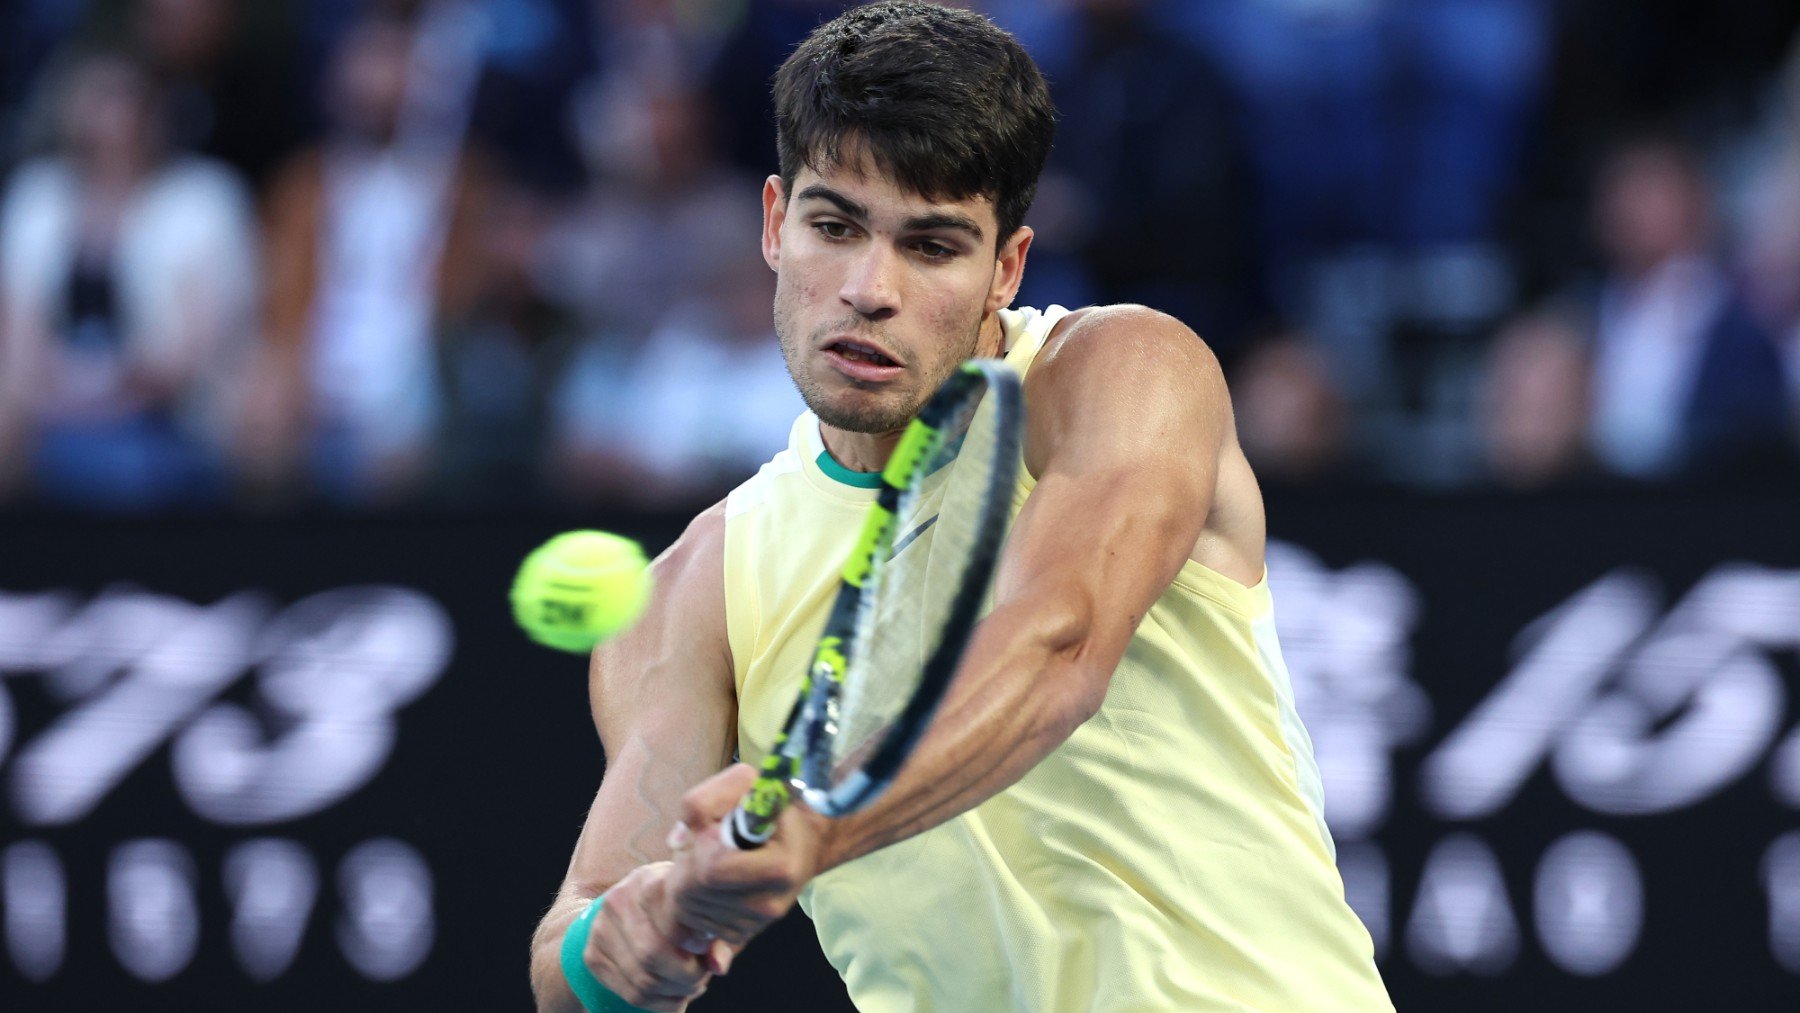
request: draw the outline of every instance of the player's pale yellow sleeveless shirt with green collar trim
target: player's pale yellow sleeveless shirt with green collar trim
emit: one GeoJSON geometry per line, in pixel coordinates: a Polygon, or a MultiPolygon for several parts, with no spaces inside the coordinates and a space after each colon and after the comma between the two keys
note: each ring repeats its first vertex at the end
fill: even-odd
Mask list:
{"type": "MultiPolygon", "coordinates": [[[[1064,313],[1003,311],[1021,374],[1064,313]]],[[[808,412],[727,498],[749,763],[794,704],[875,495],[864,479],[808,412]]],[[[1393,1008],[1345,903],[1267,581],[1193,561],[1066,743],[968,813],[819,876],[801,905],[864,1013],[1393,1008]]]]}

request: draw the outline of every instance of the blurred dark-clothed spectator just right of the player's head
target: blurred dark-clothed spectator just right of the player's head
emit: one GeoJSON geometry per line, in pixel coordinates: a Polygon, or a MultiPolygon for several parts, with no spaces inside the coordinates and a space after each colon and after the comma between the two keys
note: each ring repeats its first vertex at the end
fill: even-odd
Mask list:
{"type": "Polygon", "coordinates": [[[1060,40],[1039,54],[1060,119],[1019,300],[1145,302],[1229,356],[1258,291],[1238,106],[1148,9],[1078,0],[1040,29],[1060,40]]]}

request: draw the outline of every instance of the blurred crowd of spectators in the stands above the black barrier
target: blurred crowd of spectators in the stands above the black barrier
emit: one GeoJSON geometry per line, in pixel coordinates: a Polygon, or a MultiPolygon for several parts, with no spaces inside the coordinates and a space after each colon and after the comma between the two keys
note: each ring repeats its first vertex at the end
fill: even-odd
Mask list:
{"type": "MultiPolygon", "coordinates": [[[[1271,484],[1800,479],[1800,9],[990,0],[1024,304],[1199,329],[1271,484]]],[[[821,0],[0,0],[0,504],[686,507],[801,410],[821,0]]]]}

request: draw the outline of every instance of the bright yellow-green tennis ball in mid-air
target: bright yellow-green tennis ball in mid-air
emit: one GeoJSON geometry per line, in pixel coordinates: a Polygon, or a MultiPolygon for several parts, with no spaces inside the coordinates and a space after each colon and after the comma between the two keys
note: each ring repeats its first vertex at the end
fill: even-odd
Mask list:
{"type": "Polygon", "coordinates": [[[643,547],[607,531],[565,531],[533,549],[513,578],[513,619],[560,651],[594,650],[635,623],[648,601],[643,547]]]}

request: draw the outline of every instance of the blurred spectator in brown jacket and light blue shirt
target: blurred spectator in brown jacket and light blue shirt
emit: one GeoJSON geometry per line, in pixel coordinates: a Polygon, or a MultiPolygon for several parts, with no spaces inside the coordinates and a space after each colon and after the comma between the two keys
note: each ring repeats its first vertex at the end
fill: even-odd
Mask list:
{"type": "Polygon", "coordinates": [[[416,59],[418,40],[382,11],[349,27],[326,76],[328,135],[268,194],[270,356],[245,428],[265,488],[301,470],[328,500],[391,502],[428,473],[434,342],[477,291],[488,178],[463,153],[466,81],[421,72],[445,61],[416,59]]]}

